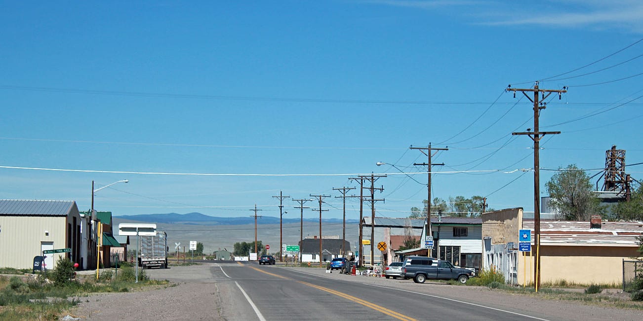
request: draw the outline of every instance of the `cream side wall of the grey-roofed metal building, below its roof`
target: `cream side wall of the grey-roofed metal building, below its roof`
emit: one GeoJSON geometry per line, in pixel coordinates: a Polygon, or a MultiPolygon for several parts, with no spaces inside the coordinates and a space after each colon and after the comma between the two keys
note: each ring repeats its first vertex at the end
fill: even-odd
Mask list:
{"type": "MultiPolygon", "coordinates": [[[[41,255],[41,242],[53,242],[53,248],[66,247],[64,216],[0,216],[0,225],[0,267],[32,268],[33,257],[41,255]]],[[[54,262],[60,255],[64,254],[54,255],[54,262]]]]}

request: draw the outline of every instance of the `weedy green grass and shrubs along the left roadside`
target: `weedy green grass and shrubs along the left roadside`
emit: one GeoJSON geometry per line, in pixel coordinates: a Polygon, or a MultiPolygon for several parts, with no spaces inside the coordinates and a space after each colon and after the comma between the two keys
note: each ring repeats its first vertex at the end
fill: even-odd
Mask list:
{"type": "Polygon", "coordinates": [[[81,302],[80,298],[90,293],[143,291],[176,286],[167,280],[150,280],[144,270],[139,270],[139,282],[136,283],[134,268],[130,266],[120,268],[118,277],[115,277],[116,273],[104,271],[98,280],[85,275],[77,279],[66,279],[65,282],[55,282],[55,273],[56,271],[51,272],[47,278],[44,275],[25,273],[0,276],[0,320],[59,320],[65,315],[71,315],[69,311],[81,302]]]}

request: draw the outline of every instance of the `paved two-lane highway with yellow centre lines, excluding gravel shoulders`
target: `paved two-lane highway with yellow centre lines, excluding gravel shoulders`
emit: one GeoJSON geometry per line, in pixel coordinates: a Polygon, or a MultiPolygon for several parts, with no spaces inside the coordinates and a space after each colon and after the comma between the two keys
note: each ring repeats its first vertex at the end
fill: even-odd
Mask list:
{"type": "MultiPolygon", "coordinates": [[[[431,284],[252,263],[219,265],[245,320],[554,320],[543,313],[427,293],[431,284]],[[320,273],[321,272],[321,273],[320,273]],[[244,313],[245,311],[245,313],[244,313]]],[[[433,286],[442,286],[433,284],[433,286]]],[[[447,285],[448,286],[448,285],[447,285]]],[[[455,286],[460,290],[467,289],[455,286]]],[[[231,302],[230,302],[231,303],[231,302]]]]}

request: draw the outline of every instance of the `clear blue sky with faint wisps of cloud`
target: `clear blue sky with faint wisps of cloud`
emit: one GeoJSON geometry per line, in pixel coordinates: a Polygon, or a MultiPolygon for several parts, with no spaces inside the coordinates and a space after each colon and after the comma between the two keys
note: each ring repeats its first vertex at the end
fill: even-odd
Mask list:
{"type": "MultiPolygon", "coordinates": [[[[449,149],[433,157],[445,164],[434,197],[533,211],[533,174],[520,170],[532,141],[511,135],[532,128],[532,104],[504,89],[536,80],[569,87],[541,112],[541,130],[563,132],[541,141],[541,168],[594,175],[613,144],[643,162],[639,1],[1,6],[0,198],[86,210],[92,180],[127,178],[98,191],[96,209],[246,216],[257,204],[278,216],[283,191],[331,195],[324,216],[340,218],[333,187],[388,173],[377,215],[403,217],[426,198],[426,167],[413,166],[426,157],[409,146],[431,143],[449,149]]],[[[541,195],[554,173],[541,171],[541,195]]],[[[347,209],[358,217],[356,198],[347,209]]]]}

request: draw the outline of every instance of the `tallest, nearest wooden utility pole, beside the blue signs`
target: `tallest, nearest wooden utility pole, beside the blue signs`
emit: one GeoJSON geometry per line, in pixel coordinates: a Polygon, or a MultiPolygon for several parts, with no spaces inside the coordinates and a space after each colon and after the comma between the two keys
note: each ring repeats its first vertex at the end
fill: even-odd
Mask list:
{"type": "Polygon", "coordinates": [[[514,92],[514,98],[516,98],[516,91],[520,91],[534,103],[534,131],[532,132],[527,129],[527,132],[518,132],[511,133],[512,135],[529,135],[529,137],[534,141],[534,245],[536,247],[536,256],[534,259],[534,288],[536,292],[540,288],[540,140],[545,135],[560,134],[561,132],[541,132],[539,129],[538,117],[540,116],[540,110],[547,107],[547,103],[541,103],[538,98],[539,96],[542,100],[545,100],[552,92],[558,94],[558,99],[561,99],[561,94],[567,92],[566,87],[563,87],[563,90],[552,90],[552,89],[539,89],[538,82],[534,85],[534,88],[530,89],[518,89],[511,88],[511,85],[507,87],[507,91],[514,92]],[[534,98],[529,97],[527,92],[533,92],[534,98]]]}

